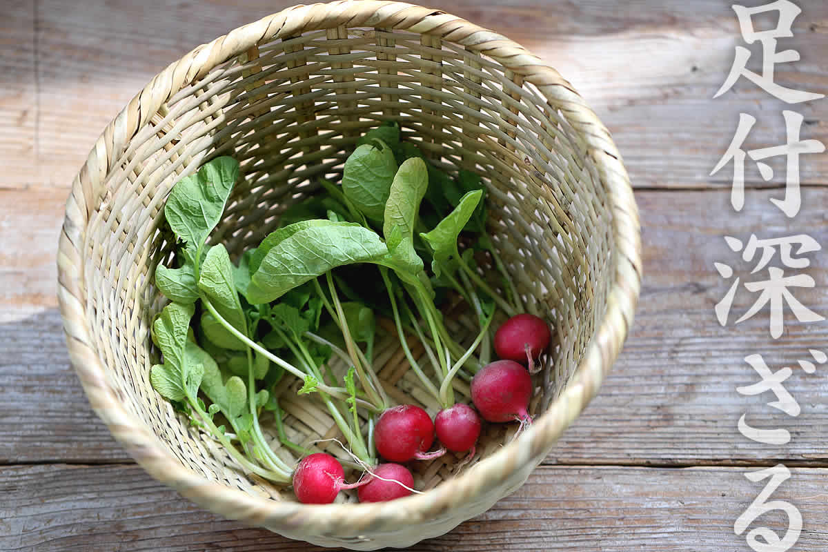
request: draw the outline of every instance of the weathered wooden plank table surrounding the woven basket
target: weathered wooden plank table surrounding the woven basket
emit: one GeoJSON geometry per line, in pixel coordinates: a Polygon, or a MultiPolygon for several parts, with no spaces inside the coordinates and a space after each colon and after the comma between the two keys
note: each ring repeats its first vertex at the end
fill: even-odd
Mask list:
{"type": "MultiPolygon", "coordinates": [[[[192,47],[290,2],[250,0],[5,0],[0,17],[0,550],[310,550],[214,516],[149,478],[89,408],[65,352],[55,252],[69,186],[104,125],[153,74],[192,47]],[[152,4],[152,6],[150,6],[152,4]]],[[[757,5],[761,2],[744,2],[757,5]]],[[[777,84],[828,94],[828,5],[800,0],[802,60],[777,84]]],[[[644,273],[638,316],[599,396],[527,485],[483,516],[416,550],[749,550],[734,521],[764,488],[745,473],[783,463],[773,492],[802,513],[793,550],[828,548],[828,366],[797,360],[826,349],[828,324],[768,332],[768,308],[722,328],[714,305],[749,276],[723,237],[807,233],[828,245],[828,155],[802,156],[802,211],[784,194],[784,160],[763,180],[753,161],[745,207],[729,203],[730,167],[710,170],[739,113],[757,118],[745,149],[785,142],[782,111],[802,137],[828,142],[828,99],[788,106],[740,79],[724,82],[744,44],[723,0],[435,0],[548,60],[596,109],[623,153],[641,210],[644,273]],[[793,417],[744,396],[758,381],[744,357],[763,354],[801,406],[793,417]],[[753,442],[741,415],[785,428],[784,445],[753,442]]],[[[754,45],[752,67],[761,50],[754,45]]],[[[828,314],[825,252],[801,272],[797,299],[828,314]]],[[[744,292],[744,290],[743,290],[744,292]]],[[[755,297],[737,295],[734,314],[755,297]]],[[[751,528],[787,528],[775,511],[751,528]]]]}

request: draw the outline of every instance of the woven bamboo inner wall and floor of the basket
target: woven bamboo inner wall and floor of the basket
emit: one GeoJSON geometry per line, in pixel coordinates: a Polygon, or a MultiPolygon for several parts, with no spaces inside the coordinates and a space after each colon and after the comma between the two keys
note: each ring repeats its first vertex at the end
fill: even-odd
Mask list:
{"type": "MultiPolygon", "coordinates": [[[[220,445],[188,427],[150,385],[158,353],[149,327],[165,302],[152,274],[174,245],[162,224],[166,194],[211,157],[238,159],[244,178],[212,238],[238,256],[277,228],[286,206],[313,194],[316,179],[339,180],[359,135],[383,121],[399,122],[404,139],[445,170],[483,175],[495,246],[528,310],[554,326],[532,415],[566,386],[604,315],[614,249],[606,190],[559,106],[496,61],[432,36],[340,26],[262,43],[181,89],[123,144],[84,244],[89,324],[113,391],[171,454],[209,480],[294,500],[289,489],[233,468],[220,445]]],[[[468,333],[468,313],[448,319],[451,331],[468,333]]],[[[396,340],[378,343],[379,376],[394,400],[436,414],[396,340]]],[[[314,444],[338,437],[327,412],[296,396],[292,377],[281,385],[288,436],[344,457],[334,441],[314,444]]],[[[469,401],[467,384],[455,391],[469,401]]],[[[262,422],[272,436],[269,416],[262,422]]],[[[484,425],[476,458],[508,442],[515,426],[484,425]]],[[[277,439],[272,445],[293,458],[277,439]]],[[[459,459],[412,464],[416,486],[452,477],[459,459]]]]}

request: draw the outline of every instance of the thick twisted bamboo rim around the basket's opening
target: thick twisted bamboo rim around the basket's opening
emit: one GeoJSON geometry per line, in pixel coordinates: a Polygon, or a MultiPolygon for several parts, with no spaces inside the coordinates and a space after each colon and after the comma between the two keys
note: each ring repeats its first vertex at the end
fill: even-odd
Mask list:
{"type": "MultiPolygon", "coordinates": [[[[575,89],[536,55],[493,31],[440,10],[405,2],[340,0],[288,7],[240,26],[227,35],[196,47],[168,65],[142,89],[105,128],[87,161],[75,176],[66,203],[57,257],[58,299],[70,362],[90,405],[108,429],[153,478],[176,488],[193,502],[224,516],[269,528],[282,527],[293,535],[338,538],[355,531],[393,530],[400,524],[428,521],[447,509],[463,508],[484,492],[502,485],[516,468],[534,468],[556,439],[575,420],[609,373],[633,321],[642,276],[640,224],[633,190],[619,151],[609,132],[575,89]],[[138,129],[161,104],[192,84],[214,66],[241,55],[262,41],[296,36],[334,26],[373,26],[439,36],[496,60],[522,74],[561,109],[595,161],[608,190],[613,214],[614,275],[599,321],[570,382],[549,409],[512,443],[485,458],[466,473],[420,495],[379,504],[302,505],[255,497],[237,488],[210,482],[185,468],[161,446],[156,434],[135,420],[106,382],[106,370],[91,339],[85,317],[83,243],[108,170],[138,129]],[[370,520],[370,527],[365,521],[370,520]],[[339,531],[339,532],[336,532],[339,531]]],[[[528,471],[526,472],[528,474],[528,471]]],[[[464,518],[465,519],[465,518],[464,518]]],[[[424,535],[428,536],[428,535],[424,535]]]]}

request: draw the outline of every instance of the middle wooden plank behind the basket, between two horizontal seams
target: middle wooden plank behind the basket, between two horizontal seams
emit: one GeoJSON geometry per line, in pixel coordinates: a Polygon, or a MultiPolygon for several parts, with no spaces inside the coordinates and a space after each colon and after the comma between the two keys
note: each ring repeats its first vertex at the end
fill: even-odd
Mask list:
{"type": "MultiPolygon", "coordinates": [[[[769,462],[787,458],[794,463],[828,465],[823,429],[828,426],[824,396],[828,367],[813,376],[798,368],[785,383],[802,406],[792,418],[766,406],[772,398],[746,397],[737,386],[757,381],[744,357],[765,355],[774,370],[797,366],[809,348],[828,342],[826,323],[794,324],[774,341],[768,331],[768,310],[755,318],[722,329],[714,305],[729,287],[713,269],[714,262],[731,263],[743,278],[751,270],[730,252],[722,236],[747,242],[759,238],[808,233],[828,244],[828,190],[804,190],[802,213],[788,221],[768,202],[782,190],[749,190],[744,212],[735,214],[729,194],[719,191],[639,192],[643,223],[644,285],[633,331],[614,372],[575,425],[552,451],[550,462],[692,464],[769,462]],[[739,416],[764,429],[787,428],[790,444],[769,447],[745,439],[736,429],[739,416]]],[[[5,347],[2,370],[14,385],[0,386],[0,414],[26,420],[25,426],[0,425],[0,462],[97,462],[126,458],[107,430],[89,410],[70,371],[60,335],[60,315],[54,307],[55,277],[51,239],[55,215],[49,215],[48,191],[0,192],[4,213],[3,243],[15,253],[2,266],[21,266],[0,286],[0,339],[5,347]],[[26,198],[31,204],[26,204],[26,198]],[[26,205],[44,205],[46,214],[31,227],[26,205]],[[22,209],[18,205],[23,205],[22,209]],[[11,207],[14,206],[14,207],[11,207]],[[17,240],[17,230],[32,238],[17,240]],[[26,234],[29,235],[29,234],[26,234]],[[49,237],[47,239],[47,237],[49,237]],[[30,259],[41,259],[27,265],[30,259]],[[28,268],[26,268],[28,266],[28,268]],[[38,268],[40,266],[40,268],[38,268]],[[22,286],[22,291],[16,289],[22,286]],[[47,299],[48,300],[47,300],[47,299]]],[[[54,208],[56,209],[56,207],[54,208]]],[[[812,290],[796,290],[804,305],[828,314],[826,253],[811,257],[804,271],[816,280],[812,290]]],[[[767,277],[767,276],[763,276],[767,277]]],[[[755,296],[741,290],[731,320],[743,314],[755,296]]],[[[732,324],[732,322],[731,322],[732,324]]]]}

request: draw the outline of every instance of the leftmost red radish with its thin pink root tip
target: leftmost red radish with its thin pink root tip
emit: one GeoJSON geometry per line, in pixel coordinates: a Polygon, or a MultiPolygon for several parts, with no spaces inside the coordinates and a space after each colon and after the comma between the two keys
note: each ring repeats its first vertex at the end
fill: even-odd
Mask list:
{"type": "Polygon", "coordinates": [[[302,504],[330,504],[344,489],[368,484],[368,480],[345,483],[345,473],[339,460],[325,453],[309,454],[302,458],[293,473],[293,492],[302,504]]]}

